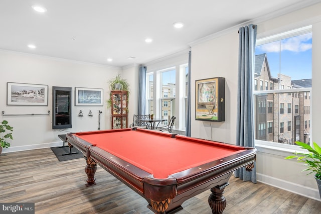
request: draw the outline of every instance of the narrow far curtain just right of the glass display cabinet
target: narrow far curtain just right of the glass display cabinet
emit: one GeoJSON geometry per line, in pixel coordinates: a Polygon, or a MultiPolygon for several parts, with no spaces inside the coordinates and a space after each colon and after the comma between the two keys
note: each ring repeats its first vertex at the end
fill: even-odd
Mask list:
{"type": "Polygon", "coordinates": [[[145,115],[146,110],[146,66],[139,67],[138,77],[138,115],[145,115]]]}

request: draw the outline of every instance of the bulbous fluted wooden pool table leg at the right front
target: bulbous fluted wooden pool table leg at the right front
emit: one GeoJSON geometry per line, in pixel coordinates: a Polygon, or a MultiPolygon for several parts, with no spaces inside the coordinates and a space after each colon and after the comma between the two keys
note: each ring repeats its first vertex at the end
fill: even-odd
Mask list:
{"type": "Polygon", "coordinates": [[[226,199],[223,195],[225,187],[229,183],[225,183],[222,186],[215,186],[211,188],[211,194],[209,196],[209,204],[213,214],[222,214],[226,207],[226,199]]]}

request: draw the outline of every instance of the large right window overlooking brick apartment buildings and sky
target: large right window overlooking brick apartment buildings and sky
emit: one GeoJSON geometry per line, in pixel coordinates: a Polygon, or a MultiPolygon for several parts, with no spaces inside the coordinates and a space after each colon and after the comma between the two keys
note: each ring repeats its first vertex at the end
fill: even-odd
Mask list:
{"type": "Polygon", "coordinates": [[[311,26],[258,39],[256,45],[255,139],[282,144],[294,144],[298,140],[309,143],[311,26]],[[265,102],[266,110],[262,108],[265,102]],[[262,138],[264,135],[266,138],[262,138]]]}

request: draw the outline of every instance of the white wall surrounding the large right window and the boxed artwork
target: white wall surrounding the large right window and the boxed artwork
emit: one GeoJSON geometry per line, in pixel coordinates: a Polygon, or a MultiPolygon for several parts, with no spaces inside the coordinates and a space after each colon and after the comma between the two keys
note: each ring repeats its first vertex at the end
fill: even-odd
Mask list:
{"type": "MultiPolygon", "coordinates": [[[[313,94],[321,91],[317,81],[321,78],[321,4],[314,5],[268,21],[251,23],[257,25],[257,38],[271,34],[312,25],[312,87],[313,94]]],[[[212,35],[209,41],[192,45],[192,103],[195,103],[195,80],[211,77],[225,77],[225,122],[210,123],[195,121],[192,114],[192,137],[212,139],[235,144],[237,64],[238,64],[238,27],[227,29],[224,35],[212,35]]],[[[208,39],[208,38],[207,38],[208,39]]],[[[321,144],[321,128],[318,111],[321,100],[312,94],[311,112],[312,140],[321,144]]],[[[192,105],[192,113],[195,106],[192,105]]],[[[295,160],[284,160],[291,151],[276,151],[271,148],[257,147],[257,179],[279,188],[296,192],[319,200],[313,175],[305,176],[302,164],[295,160]]]]}

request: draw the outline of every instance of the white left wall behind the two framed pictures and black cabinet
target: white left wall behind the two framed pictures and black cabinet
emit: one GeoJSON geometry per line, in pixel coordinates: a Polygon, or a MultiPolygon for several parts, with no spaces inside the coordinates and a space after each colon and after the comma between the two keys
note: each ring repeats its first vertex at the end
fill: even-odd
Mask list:
{"type": "Polygon", "coordinates": [[[90,131],[98,129],[98,110],[100,128],[110,129],[110,110],[106,108],[109,98],[107,81],[121,72],[118,67],[102,66],[43,57],[32,54],[0,50],[0,111],[5,114],[46,114],[42,116],[0,116],[14,127],[9,149],[3,152],[61,145],[58,134],[66,132],[90,131]],[[7,82],[48,85],[48,106],[7,105],[7,82]],[[72,87],[72,128],[64,131],[52,129],[52,86],[72,87]],[[75,106],[75,87],[103,88],[103,106],[75,106]],[[78,117],[79,111],[84,117],[78,117]],[[89,110],[93,117],[88,117],[89,110]]]}

